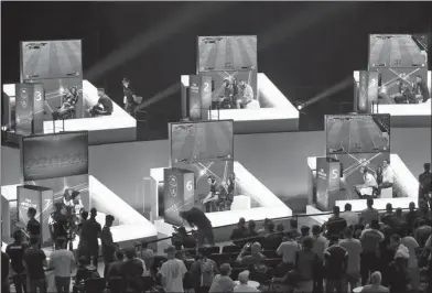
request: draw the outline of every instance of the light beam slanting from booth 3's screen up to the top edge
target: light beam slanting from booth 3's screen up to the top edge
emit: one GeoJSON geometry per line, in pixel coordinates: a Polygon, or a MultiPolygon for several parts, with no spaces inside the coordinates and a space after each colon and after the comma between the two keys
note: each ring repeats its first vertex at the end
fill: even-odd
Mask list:
{"type": "Polygon", "coordinates": [[[196,25],[203,20],[208,21],[212,15],[216,15],[222,10],[231,8],[234,2],[191,2],[171,17],[162,20],[155,28],[141,33],[125,46],[109,54],[104,61],[90,68],[86,74],[86,79],[95,80],[107,74],[117,66],[125,64],[144,50],[160,45],[179,32],[196,25]]]}

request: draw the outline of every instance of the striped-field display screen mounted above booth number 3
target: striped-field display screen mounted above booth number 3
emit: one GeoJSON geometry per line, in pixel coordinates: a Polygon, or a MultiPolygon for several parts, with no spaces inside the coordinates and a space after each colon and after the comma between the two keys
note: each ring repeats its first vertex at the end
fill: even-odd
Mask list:
{"type": "Polygon", "coordinates": [[[79,76],[80,40],[21,42],[21,82],[79,76]]]}

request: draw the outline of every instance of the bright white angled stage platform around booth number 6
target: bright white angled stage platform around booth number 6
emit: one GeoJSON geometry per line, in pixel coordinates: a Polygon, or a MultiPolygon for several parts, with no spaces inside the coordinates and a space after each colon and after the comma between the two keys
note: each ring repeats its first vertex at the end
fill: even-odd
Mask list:
{"type": "MultiPolygon", "coordinates": [[[[236,174],[237,191],[239,194],[249,196],[251,202],[256,202],[259,207],[242,210],[226,210],[216,213],[206,213],[214,228],[236,225],[244,217],[246,220],[263,220],[264,218],[277,219],[292,216],[292,210],[280,200],[272,192],[270,192],[261,182],[249,173],[239,162],[234,162],[234,173],[236,174]]],[[[151,203],[158,203],[158,184],[163,182],[163,167],[150,170],[151,195],[145,199],[151,203]]],[[[158,210],[158,207],[155,207],[158,210]]],[[[158,215],[155,215],[158,216],[158,215]]],[[[165,224],[163,219],[154,220],[158,231],[164,235],[172,235],[174,231],[170,224],[165,224]]]]}

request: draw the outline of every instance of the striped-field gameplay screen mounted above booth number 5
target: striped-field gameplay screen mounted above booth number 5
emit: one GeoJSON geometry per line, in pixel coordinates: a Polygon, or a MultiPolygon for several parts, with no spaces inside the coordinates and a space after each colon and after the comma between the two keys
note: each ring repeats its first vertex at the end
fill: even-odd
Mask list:
{"type": "Polygon", "coordinates": [[[325,117],[327,154],[390,151],[390,115],[325,117]]]}

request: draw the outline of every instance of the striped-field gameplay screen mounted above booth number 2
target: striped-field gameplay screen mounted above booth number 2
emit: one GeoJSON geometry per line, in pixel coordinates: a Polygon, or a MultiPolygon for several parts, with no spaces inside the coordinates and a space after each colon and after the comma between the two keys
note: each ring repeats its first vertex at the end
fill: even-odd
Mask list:
{"type": "Polygon", "coordinates": [[[197,72],[258,69],[257,36],[198,36],[197,72]]]}

